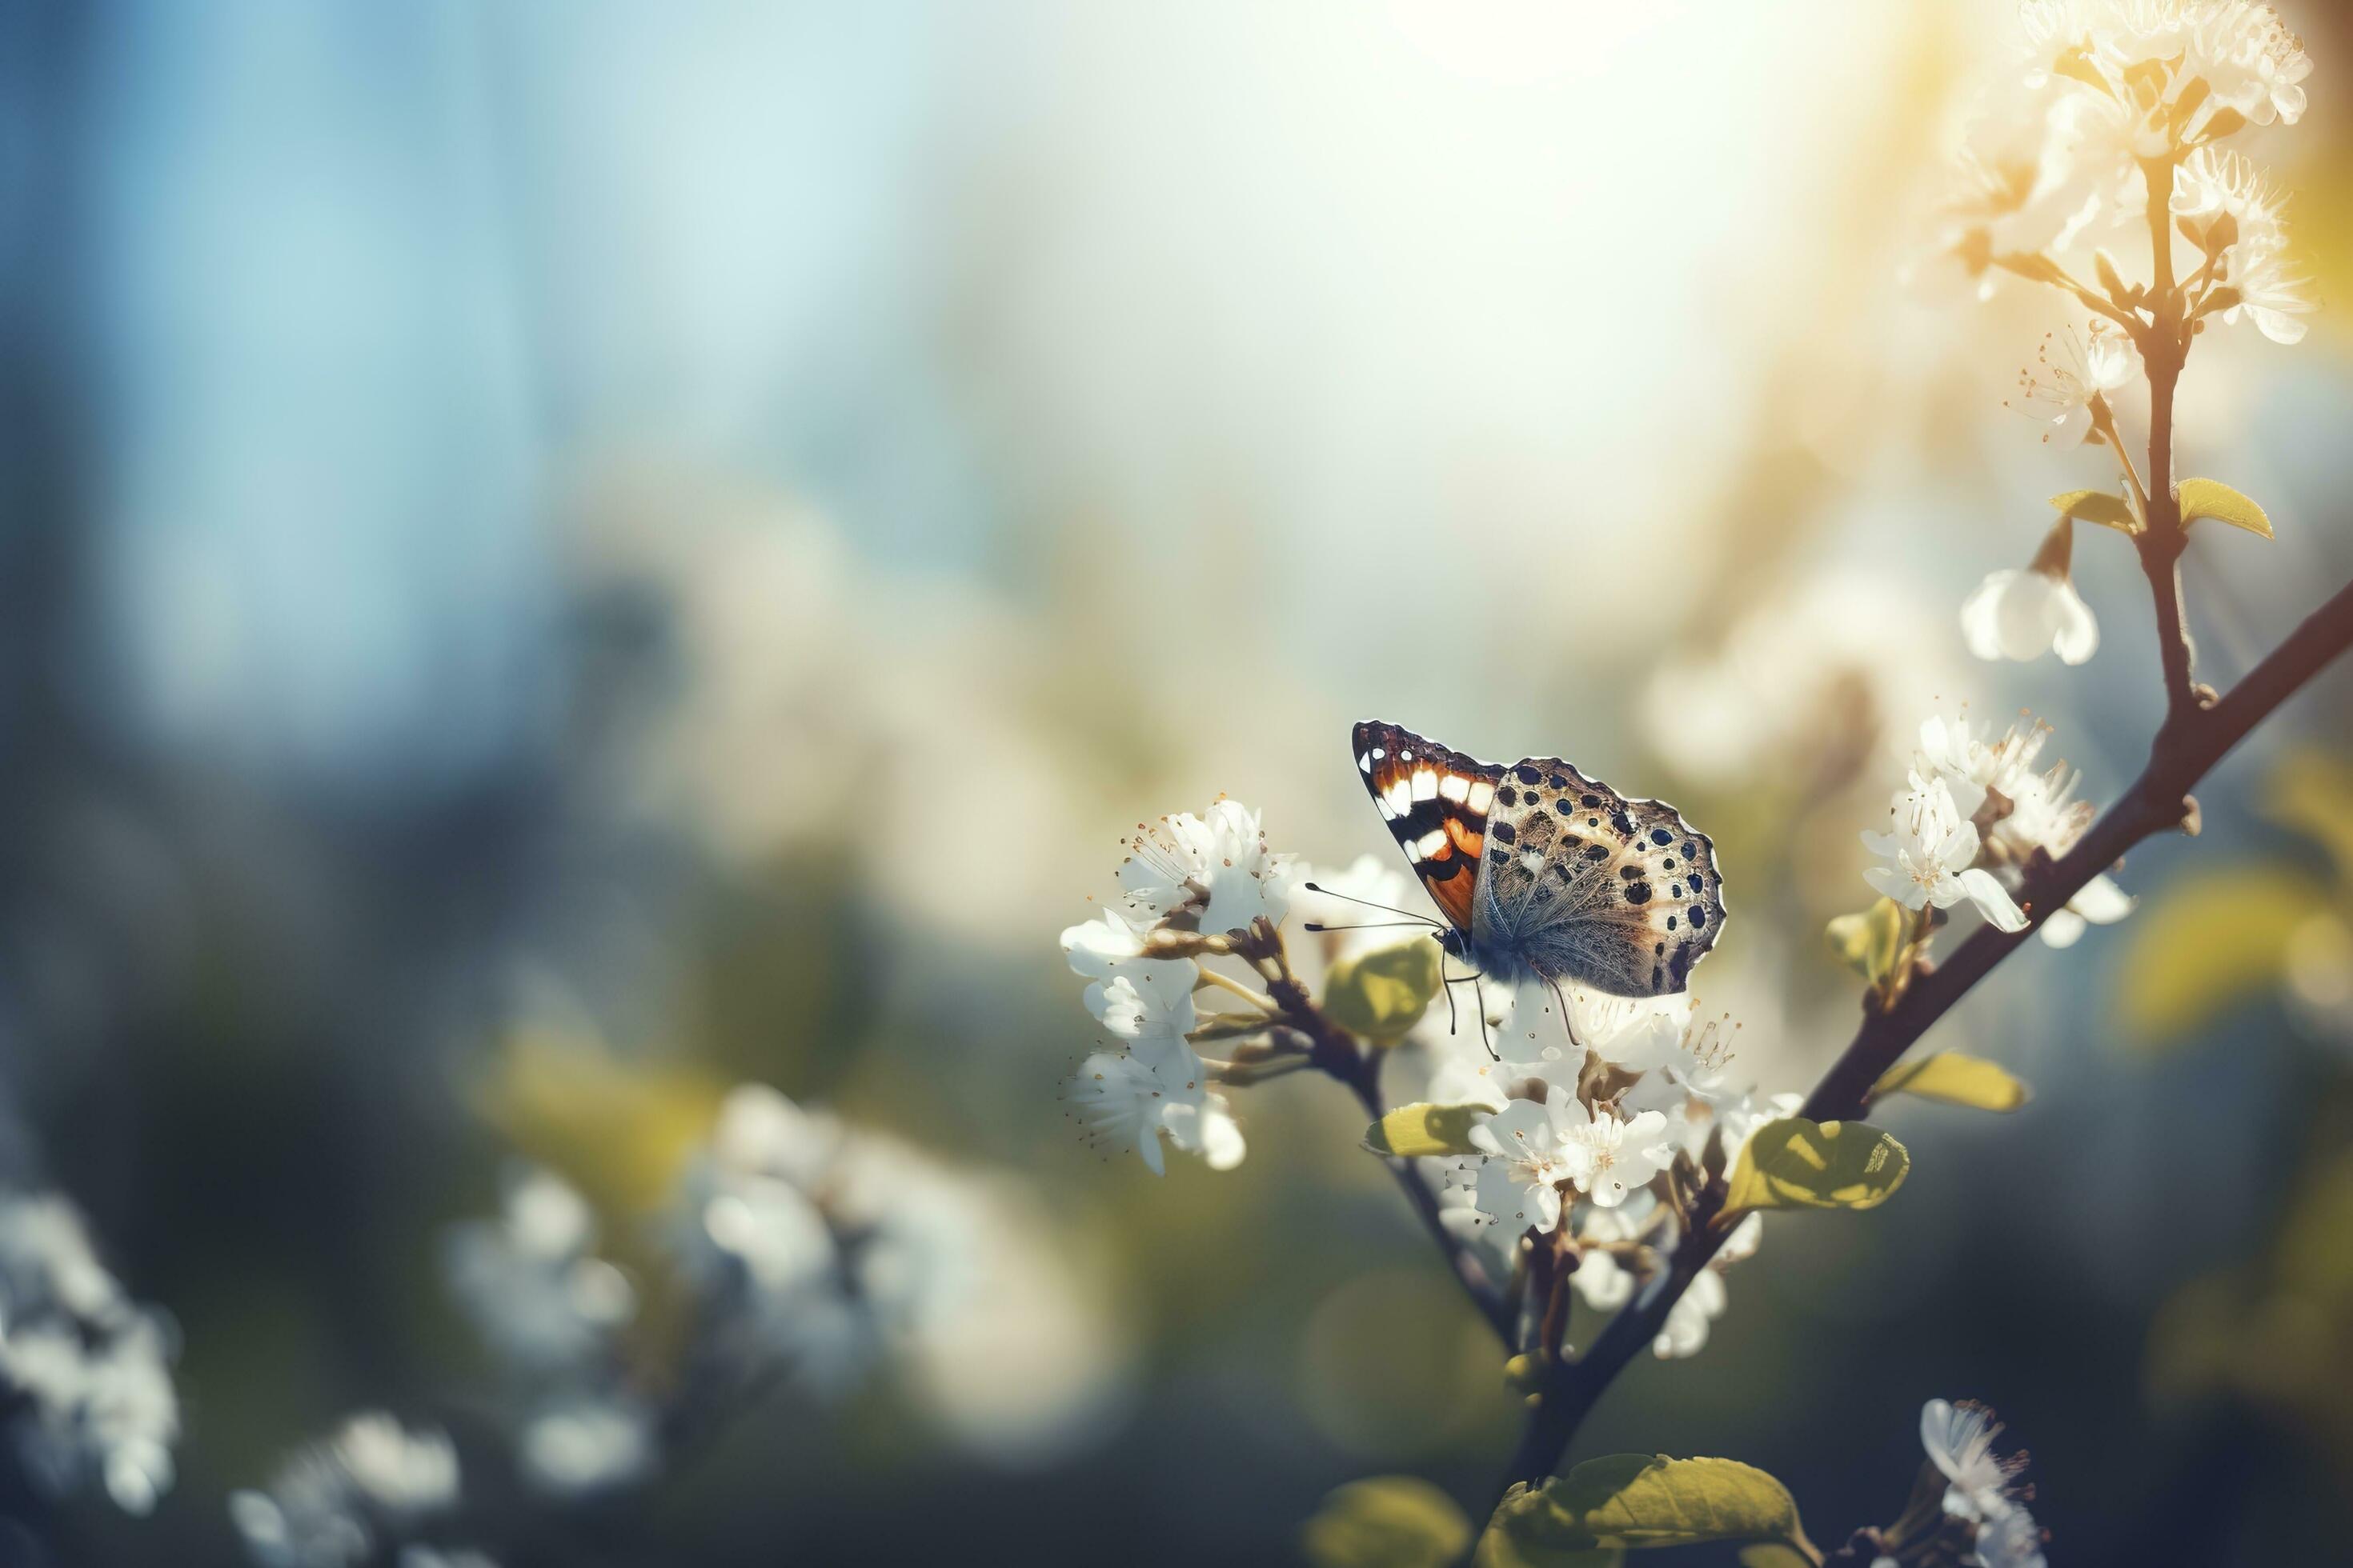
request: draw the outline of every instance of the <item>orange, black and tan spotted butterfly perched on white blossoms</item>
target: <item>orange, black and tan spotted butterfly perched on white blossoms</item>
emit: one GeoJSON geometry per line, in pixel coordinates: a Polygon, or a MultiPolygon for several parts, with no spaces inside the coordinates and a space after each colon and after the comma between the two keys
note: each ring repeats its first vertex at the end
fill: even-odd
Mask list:
{"type": "Polygon", "coordinates": [[[1438,945],[1478,973],[1555,997],[1562,980],[1659,997],[1725,929],[1715,844],[1673,806],[1558,757],[1499,766],[1379,722],[1353,741],[1365,790],[1447,917],[1438,945]]]}

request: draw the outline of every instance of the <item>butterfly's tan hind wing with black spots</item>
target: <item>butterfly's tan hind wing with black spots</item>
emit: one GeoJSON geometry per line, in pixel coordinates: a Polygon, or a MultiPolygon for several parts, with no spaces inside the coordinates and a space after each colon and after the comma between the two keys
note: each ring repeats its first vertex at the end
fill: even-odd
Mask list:
{"type": "Polygon", "coordinates": [[[1497,780],[1478,886],[1473,952],[1612,997],[1680,992],[1725,924],[1708,835],[1558,757],[1497,780]]]}

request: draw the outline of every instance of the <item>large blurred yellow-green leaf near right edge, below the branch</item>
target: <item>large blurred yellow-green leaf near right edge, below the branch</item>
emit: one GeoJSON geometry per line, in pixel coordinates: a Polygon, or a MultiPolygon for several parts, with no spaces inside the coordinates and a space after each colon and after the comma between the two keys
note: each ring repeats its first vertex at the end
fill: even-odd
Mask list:
{"type": "Polygon", "coordinates": [[[2177,1039],[2226,1006],[2271,992],[2289,938],[2329,900],[2327,884],[2282,865],[2167,882],[2132,919],[2115,966],[2115,1011],[2127,1039],[2177,1039]]]}

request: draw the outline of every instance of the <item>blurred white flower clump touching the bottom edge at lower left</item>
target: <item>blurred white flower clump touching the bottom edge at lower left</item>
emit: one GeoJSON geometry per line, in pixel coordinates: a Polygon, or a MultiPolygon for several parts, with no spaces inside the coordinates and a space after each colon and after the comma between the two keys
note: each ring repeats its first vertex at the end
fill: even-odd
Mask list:
{"type": "Polygon", "coordinates": [[[245,1549],[264,1568],[346,1568],[459,1500],[456,1448],[362,1410],[287,1460],[268,1490],[228,1497],[245,1549]]]}

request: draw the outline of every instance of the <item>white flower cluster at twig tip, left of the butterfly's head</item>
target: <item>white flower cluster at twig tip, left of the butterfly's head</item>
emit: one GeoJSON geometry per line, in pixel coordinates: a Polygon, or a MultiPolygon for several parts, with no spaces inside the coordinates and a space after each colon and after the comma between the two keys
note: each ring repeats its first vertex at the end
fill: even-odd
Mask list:
{"type": "Polygon", "coordinates": [[[1202,1027],[1193,994],[1205,964],[1231,954],[1235,936],[1271,931],[1289,912],[1297,867],[1271,853],[1259,816],[1219,799],[1205,816],[1165,816],[1122,842],[1118,910],[1061,933],[1071,969],[1087,980],[1087,1011],[1118,1039],[1071,1081],[1071,1114],[1099,1147],[1134,1147],[1165,1168],[1162,1143],[1217,1171],[1242,1161],[1242,1131],[1212,1070],[1193,1048],[1202,1027]]]}

